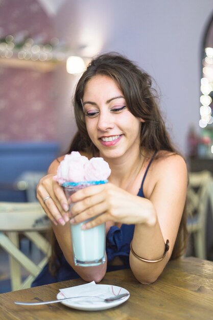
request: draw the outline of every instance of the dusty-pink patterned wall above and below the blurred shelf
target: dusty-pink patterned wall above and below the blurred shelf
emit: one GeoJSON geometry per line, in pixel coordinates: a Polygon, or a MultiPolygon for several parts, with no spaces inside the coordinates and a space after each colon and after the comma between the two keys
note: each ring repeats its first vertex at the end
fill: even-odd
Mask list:
{"type": "MultiPolygon", "coordinates": [[[[46,43],[53,37],[53,27],[35,0],[2,0],[0,38],[9,34],[17,42],[31,37],[46,43]]],[[[0,65],[0,83],[0,141],[55,140],[52,73],[0,65]]]]}

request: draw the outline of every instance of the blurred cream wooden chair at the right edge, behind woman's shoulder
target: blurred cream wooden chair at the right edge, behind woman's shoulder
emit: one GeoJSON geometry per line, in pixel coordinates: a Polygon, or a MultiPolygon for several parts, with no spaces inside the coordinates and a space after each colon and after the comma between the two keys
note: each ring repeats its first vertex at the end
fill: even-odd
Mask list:
{"type": "Polygon", "coordinates": [[[206,221],[211,194],[212,176],[209,171],[190,172],[187,189],[187,230],[193,236],[195,255],[206,259],[206,221]]]}

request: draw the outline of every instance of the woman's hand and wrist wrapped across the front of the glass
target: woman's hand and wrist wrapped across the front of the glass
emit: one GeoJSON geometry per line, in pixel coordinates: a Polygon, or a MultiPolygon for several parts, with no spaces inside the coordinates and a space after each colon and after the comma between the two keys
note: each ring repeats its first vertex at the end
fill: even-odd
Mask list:
{"type": "Polygon", "coordinates": [[[73,203],[71,223],[83,222],[82,228],[91,228],[106,221],[125,224],[154,224],[156,213],[150,200],[130,194],[114,186],[105,184],[79,190],[70,197],[73,203]]]}

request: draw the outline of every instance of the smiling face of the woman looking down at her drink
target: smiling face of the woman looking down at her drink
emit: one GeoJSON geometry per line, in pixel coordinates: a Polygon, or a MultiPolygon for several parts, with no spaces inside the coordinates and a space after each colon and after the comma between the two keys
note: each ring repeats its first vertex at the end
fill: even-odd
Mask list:
{"type": "Polygon", "coordinates": [[[83,96],[89,137],[104,158],[139,152],[142,119],[129,111],[123,93],[110,77],[98,75],[86,84],[83,96]]]}

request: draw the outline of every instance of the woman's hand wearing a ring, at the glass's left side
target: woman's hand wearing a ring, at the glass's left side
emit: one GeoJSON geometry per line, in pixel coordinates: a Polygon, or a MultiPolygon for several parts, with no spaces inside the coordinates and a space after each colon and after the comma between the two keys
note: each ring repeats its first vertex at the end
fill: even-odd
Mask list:
{"type": "Polygon", "coordinates": [[[58,223],[64,225],[70,219],[68,204],[63,188],[53,179],[54,175],[48,174],[40,179],[37,198],[50,220],[55,225],[58,223]]]}

